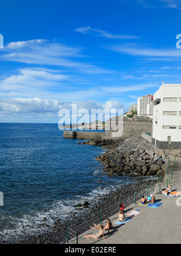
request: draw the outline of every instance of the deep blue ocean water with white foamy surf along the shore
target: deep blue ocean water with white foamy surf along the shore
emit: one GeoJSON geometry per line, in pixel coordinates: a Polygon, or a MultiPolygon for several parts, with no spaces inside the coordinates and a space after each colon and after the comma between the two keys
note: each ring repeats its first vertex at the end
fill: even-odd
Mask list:
{"type": "Polygon", "coordinates": [[[78,142],[63,138],[57,124],[0,123],[0,241],[36,234],[43,217],[52,225],[76,203],[145,179],[106,176],[95,160],[105,149],[78,142]]]}

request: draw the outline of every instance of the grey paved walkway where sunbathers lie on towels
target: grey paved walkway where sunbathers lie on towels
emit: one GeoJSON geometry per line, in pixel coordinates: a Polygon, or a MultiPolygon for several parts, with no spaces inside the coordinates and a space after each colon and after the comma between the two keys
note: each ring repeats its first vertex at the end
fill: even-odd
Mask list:
{"type": "MultiPolygon", "coordinates": [[[[170,163],[170,167],[173,162],[170,163]]],[[[172,168],[172,167],[171,167],[172,168]]],[[[118,220],[118,214],[110,217],[115,230],[111,230],[109,234],[104,232],[104,236],[95,240],[93,238],[83,239],[78,236],[78,244],[180,244],[181,243],[181,196],[178,198],[169,197],[159,194],[159,189],[167,187],[167,179],[173,190],[181,191],[181,158],[177,158],[176,164],[173,166],[173,174],[171,179],[171,168],[168,170],[165,180],[160,186],[156,185],[154,196],[160,200],[162,205],[158,208],[149,208],[147,206],[138,205],[140,202],[133,203],[125,208],[125,215],[130,211],[139,209],[140,214],[124,225],[115,225],[118,220]],[[180,206],[179,206],[180,205],[180,206]]],[[[96,223],[98,224],[98,223],[96,223]]],[[[103,225],[106,221],[103,222],[103,225]]],[[[93,223],[90,223],[93,225],[93,223]]],[[[83,235],[96,234],[97,229],[89,229],[83,235]]],[[[69,241],[69,244],[75,244],[76,241],[69,241]]]]}

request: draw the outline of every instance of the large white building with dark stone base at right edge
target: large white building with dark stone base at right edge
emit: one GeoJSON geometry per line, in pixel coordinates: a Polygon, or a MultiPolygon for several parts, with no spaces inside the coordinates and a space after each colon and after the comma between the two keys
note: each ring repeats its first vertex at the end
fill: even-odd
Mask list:
{"type": "Polygon", "coordinates": [[[154,93],[152,143],[181,148],[181,84],[163,84],[154,93]]]}

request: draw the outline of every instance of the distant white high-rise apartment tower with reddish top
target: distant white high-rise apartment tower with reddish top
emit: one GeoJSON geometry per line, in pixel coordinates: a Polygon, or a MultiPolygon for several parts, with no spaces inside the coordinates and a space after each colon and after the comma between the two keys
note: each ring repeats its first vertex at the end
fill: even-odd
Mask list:
{"type": "Polygon", "coordinates": [[[138,98],[138,116],[153,116],[153,95],[138,98]]]}

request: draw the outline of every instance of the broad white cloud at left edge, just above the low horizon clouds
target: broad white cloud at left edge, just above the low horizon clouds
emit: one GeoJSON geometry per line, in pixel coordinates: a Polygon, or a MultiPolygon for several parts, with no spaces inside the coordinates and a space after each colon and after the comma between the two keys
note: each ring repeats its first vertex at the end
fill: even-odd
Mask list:
{"type": "Polygon", "coordinates": [[[64,74],[52,70],[24,68],[18,74],[4,77],[0,82],[1,97],[34,97],[37,94],[63,90],[63,82],[68,79],[64,74]]]}

